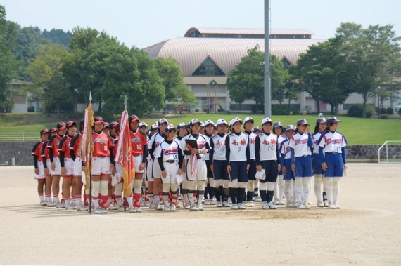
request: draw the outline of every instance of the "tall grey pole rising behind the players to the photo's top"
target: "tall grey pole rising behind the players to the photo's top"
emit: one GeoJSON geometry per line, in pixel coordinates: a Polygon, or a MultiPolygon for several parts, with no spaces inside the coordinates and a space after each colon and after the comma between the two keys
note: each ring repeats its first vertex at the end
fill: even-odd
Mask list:
{"type": "Polygon", "coordinates": [[[270,50],[269,50],[269,0],[265,0],[265,117],[272,117],[272,88],[270,77],[270,50]]]}

